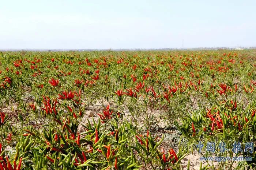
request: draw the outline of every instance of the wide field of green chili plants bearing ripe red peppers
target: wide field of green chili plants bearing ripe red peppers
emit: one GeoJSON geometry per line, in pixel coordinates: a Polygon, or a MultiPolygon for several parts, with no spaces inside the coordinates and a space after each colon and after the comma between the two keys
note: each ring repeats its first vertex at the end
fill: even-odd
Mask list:
{"type": "Polygon", "coordinates": [[[2,51],[0,170],[256,169],[255,88],[255,50],[2,51]]]}

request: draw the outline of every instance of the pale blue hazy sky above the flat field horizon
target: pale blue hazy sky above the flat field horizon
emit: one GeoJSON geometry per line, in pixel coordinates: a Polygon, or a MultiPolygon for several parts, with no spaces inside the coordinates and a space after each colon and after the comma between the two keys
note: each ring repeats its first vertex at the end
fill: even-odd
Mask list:
{"type": "Polygon", "coordinates": [[[255,0],[2,0],[0,49],[256,46],[255,0]]]}

